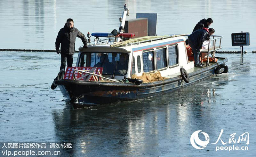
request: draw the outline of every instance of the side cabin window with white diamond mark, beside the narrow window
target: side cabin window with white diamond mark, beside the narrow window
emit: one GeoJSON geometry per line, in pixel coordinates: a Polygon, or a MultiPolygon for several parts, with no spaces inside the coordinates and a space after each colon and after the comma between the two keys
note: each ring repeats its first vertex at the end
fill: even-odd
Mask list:
{"type": "Polygon", "coordinates": [[[143,71],[150,72],[155,71],[155,64],[154,64],[154,51],[144,52],[142,54],[143,60],[143,71]]]}

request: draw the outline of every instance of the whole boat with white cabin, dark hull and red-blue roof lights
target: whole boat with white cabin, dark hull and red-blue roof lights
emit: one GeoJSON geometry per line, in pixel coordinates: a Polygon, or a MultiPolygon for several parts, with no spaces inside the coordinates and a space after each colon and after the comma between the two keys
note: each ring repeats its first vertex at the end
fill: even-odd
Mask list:
{"type": "MultiPolygon", "coordinates": [[[[123,11],[123,19],[126,14],[123,11]]],[[[92,33],[94,44],[79,48],[76,67],[62,69],[54,79],[52,89],[58,86],[75,109],[145,99],[228,72],[228,59],[215,57],[223,36],[211,36],[202,52],[206,66],[195,68],[185,44],[188,34],[134,38],[124,33],[124,21],[119,28],[92,33]]],[[[89,33],[87,37],[90,41],[89,33]]]]}

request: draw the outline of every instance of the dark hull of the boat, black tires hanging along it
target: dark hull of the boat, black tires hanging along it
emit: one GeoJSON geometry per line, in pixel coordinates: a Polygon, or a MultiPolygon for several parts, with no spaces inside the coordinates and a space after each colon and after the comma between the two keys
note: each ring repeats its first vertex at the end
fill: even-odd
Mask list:
{"type": "MultiPolygon", "coordinates": [[[[228,59],[223,59],[218,64],[224,64],[228,59]]],[[[214,74],[217,64],[189,73],[189,83],[184,82],[180,76],[151,83],[116,83],[116,82],[92,82],[77,80],[56,80],[62,94],[67,97],[74,108],[83,108],[88,105],[99,105],[119,101],[148,98],[169,92],[189,85],[198,80],[214,74]]]]}

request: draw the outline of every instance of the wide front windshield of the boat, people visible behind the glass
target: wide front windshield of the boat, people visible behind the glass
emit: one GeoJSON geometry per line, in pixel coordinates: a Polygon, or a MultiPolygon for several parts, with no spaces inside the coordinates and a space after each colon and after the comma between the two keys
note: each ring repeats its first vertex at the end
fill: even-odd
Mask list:
{"type": "Polygon", "coordinates": [[[82,53],[79,67],[102,67],[103,75],[126,75],[128,61],[125,53],[82,53]]]}

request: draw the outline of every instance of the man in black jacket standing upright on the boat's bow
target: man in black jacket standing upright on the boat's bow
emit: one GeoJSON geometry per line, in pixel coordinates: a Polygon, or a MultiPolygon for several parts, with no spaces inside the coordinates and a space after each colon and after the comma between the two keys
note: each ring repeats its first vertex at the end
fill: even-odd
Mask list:
{"type": "Polygon", "coordinates": [[[81,38],[84,48],[87,48],[87,39],[84,34],[74,27],[73,19],[68,18],[67,23],[60,29],[55,42],[56,53],[61,54],[60,70],[65,69],[67,63],[68,67],[72,67],[76,37],[81,38]]]}

